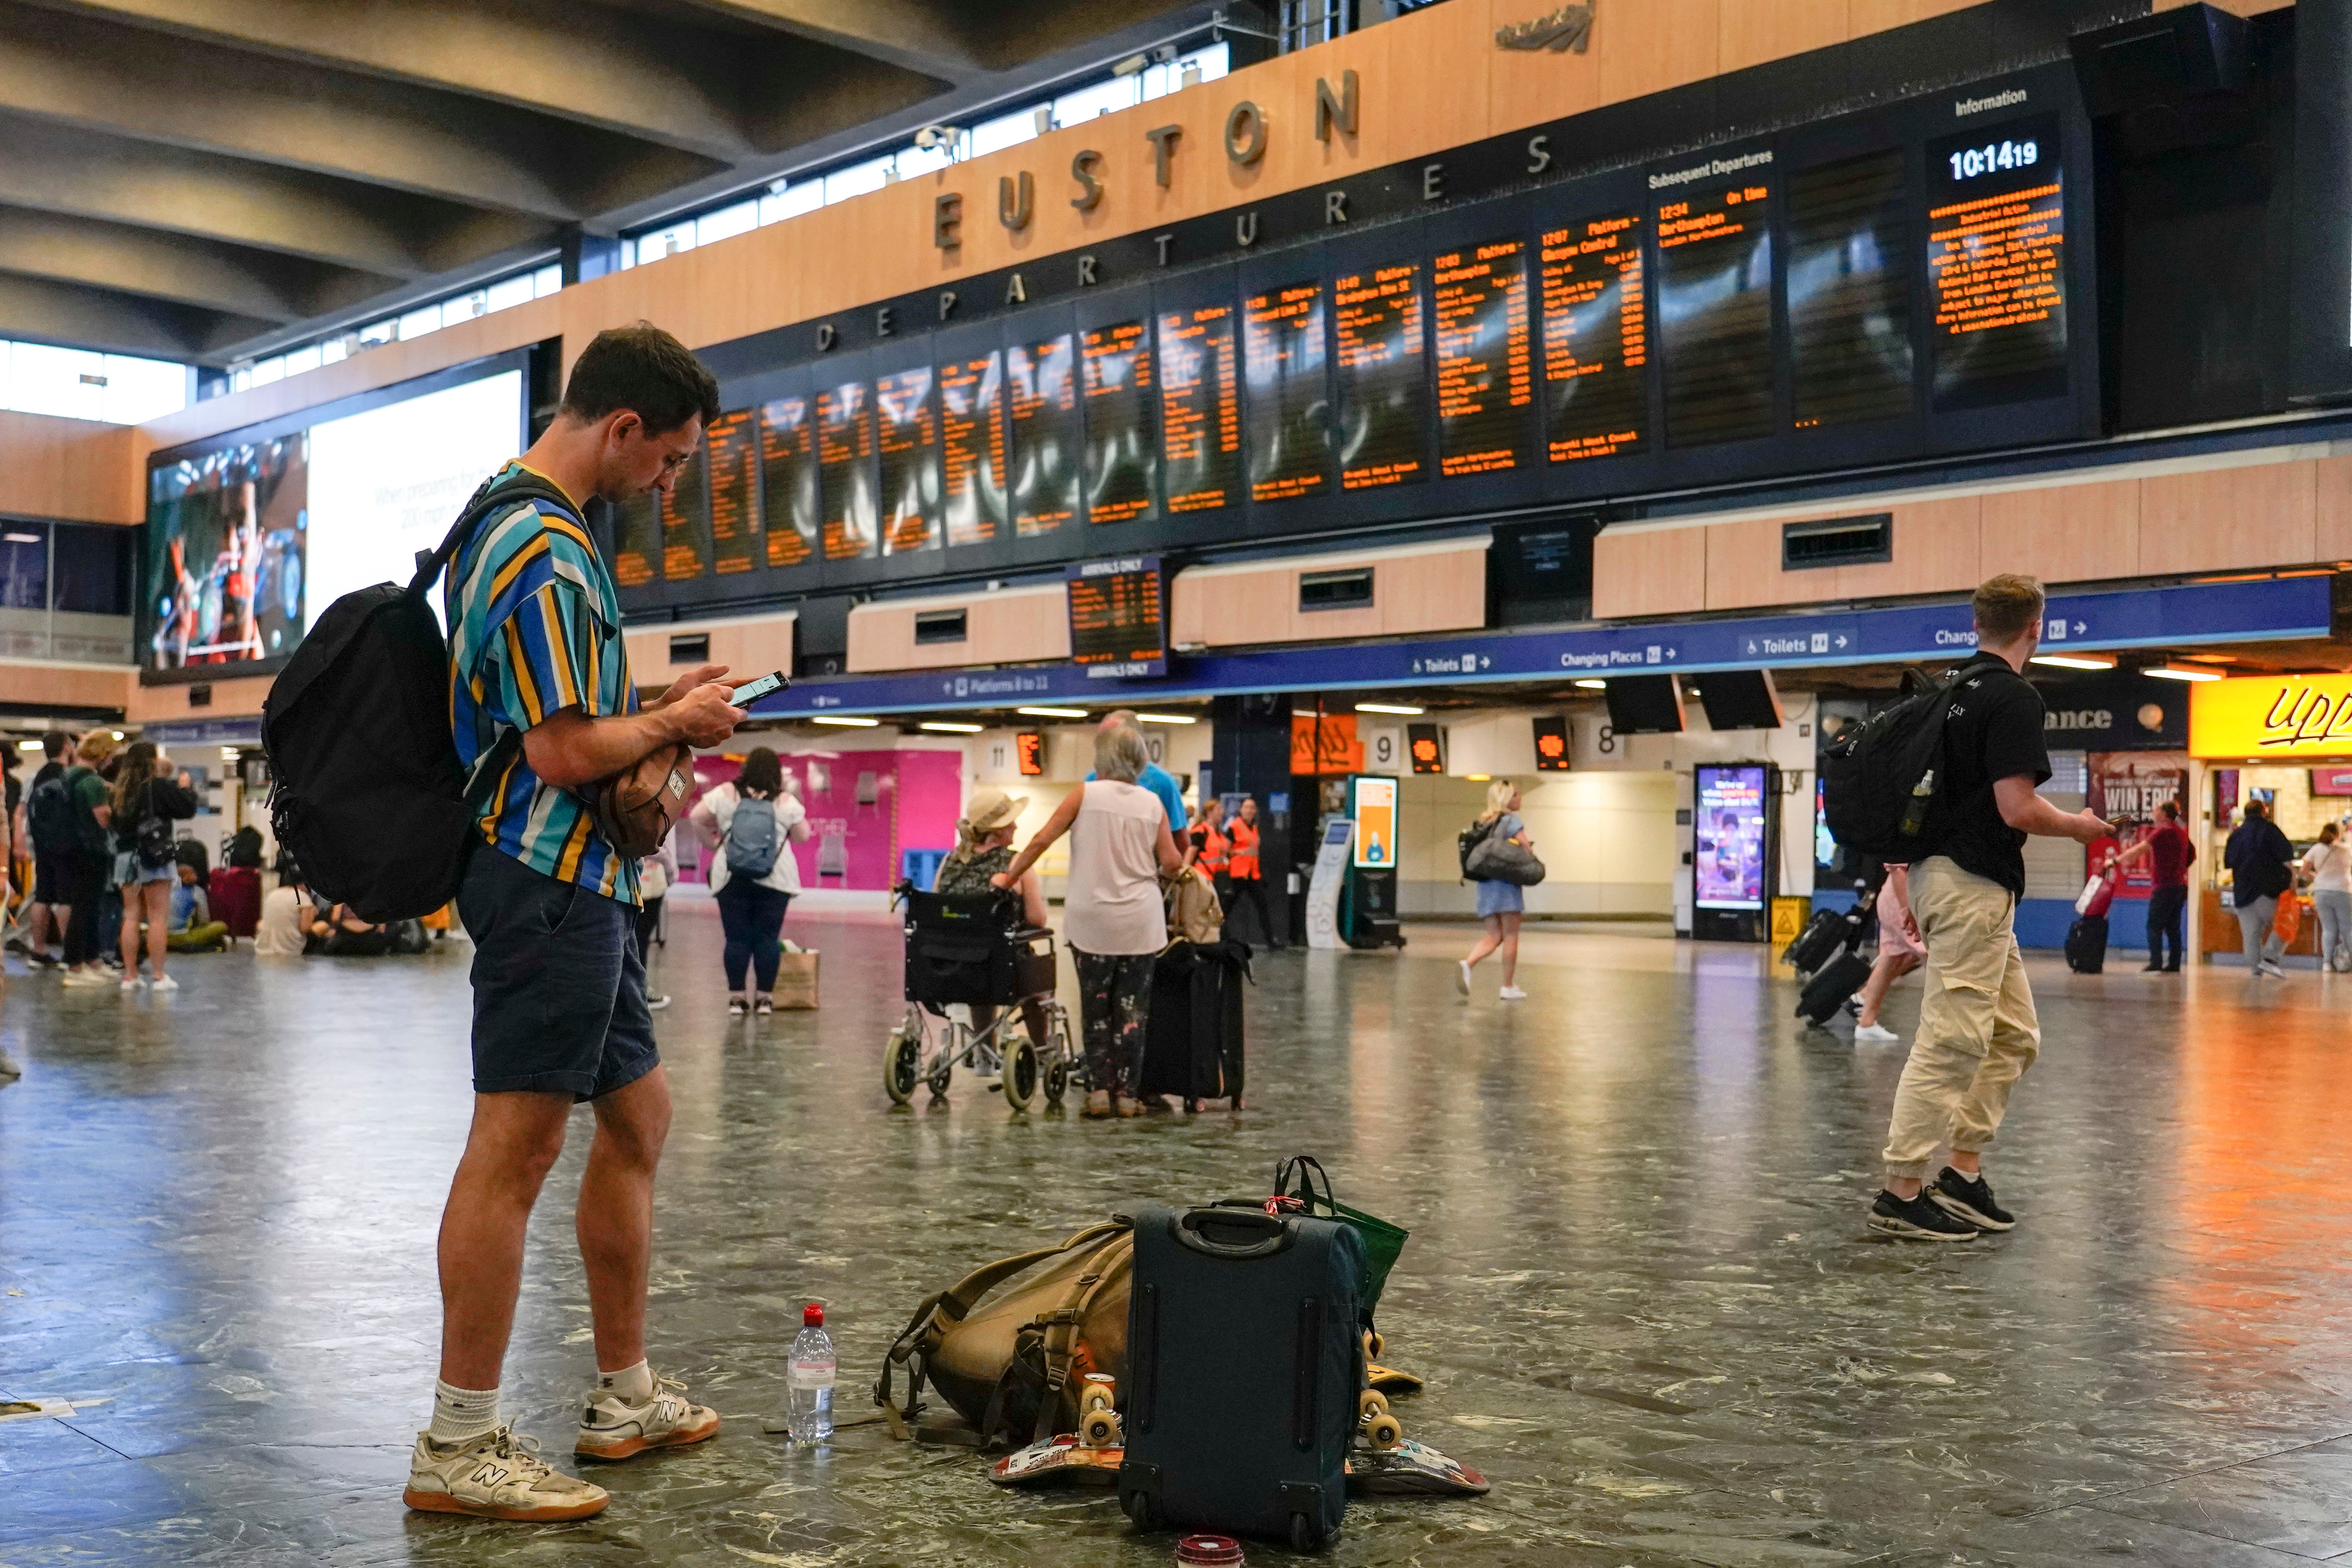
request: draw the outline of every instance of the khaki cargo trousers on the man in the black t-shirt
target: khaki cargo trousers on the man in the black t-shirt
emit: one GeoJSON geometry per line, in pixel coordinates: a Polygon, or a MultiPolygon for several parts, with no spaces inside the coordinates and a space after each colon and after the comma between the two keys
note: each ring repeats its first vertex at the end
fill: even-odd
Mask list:
{"type": "Polygon", "coordinates": [[[2042,1053],[2042,1020],[2009,889],[1929,856],[1910,867],[1910,893],[1926,940],[1926,997],[1896,1084],[1886,1175],[1924,1180],[1938,1150],[1992,1145],[2009,1091],[2042,1053]]]}

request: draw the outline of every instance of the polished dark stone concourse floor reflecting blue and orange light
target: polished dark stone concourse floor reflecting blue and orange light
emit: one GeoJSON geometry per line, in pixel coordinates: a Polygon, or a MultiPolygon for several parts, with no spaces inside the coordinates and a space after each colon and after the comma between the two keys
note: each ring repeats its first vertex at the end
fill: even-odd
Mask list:
{"type": "MultiPolygon", "coordinates": [[[[1371,1500],[1334,1563],[2197,1563],[2352,1554],[2352,978],[2034,964],[2046,1051],[1990,1168],[2023,1225],[1865,1237],[1900,1046],[1802,1032],[1752,950],[1529,938],[1517,1006],[1463,926],[1258,964],[1240,1114],[891,1110],[896,933],[800,919],[818,1013],[729,1025],[717,922],[659,973],[677,1121],[656,1366],[729,1425],[597,1479],[579,1526],[400,1507],[466,1126],[463,950],[174,961],[125,1001],[9,976],[0,1044],[0,1563],[1164,1563],[1105,1493],[957,1450],[762,1432],[804,1295],[844,1415],[927,1291],[1134,1199],[1263,1192],[1317,1152],[1414,1229],[1383,1309],[1406,1429],[1482,1500],[1371,1500]]],[[[14,961],[12,961],[14,969],[14,961]]],[[[1915,992],[1889,1009],[1910,1025],[1915,992]]],[[[581,1121],[586,1112],[581,1112],[581,1121]]],[[[579,1173],[586,1126],[550,1194],[579,1173]]],[[[543,1204],[508,1408],[569,1450],[590,1375],[543,1204]]],[[[1287,1554],[1251,1547],[1256,1561],[1287,1554]]]]}

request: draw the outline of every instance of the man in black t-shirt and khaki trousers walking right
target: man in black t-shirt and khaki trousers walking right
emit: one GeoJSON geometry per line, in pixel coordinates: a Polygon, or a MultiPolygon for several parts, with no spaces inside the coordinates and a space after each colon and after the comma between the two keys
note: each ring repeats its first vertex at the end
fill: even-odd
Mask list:
{"type": "Polygon", "coordinates": [[[1886,1187],[1870,1206],[1870,1229],[1905,1241],[1973,1241],[1980,1229],[2016,1225],[1992,1201],[1983,1150],[2042,1051],[2013,926],[2025,837],[2089,844],[2112,832],[2089,811],[2060,811],[2034,795],[2051,776],[2042,693],[2025,684],[2039,642],[2042,583],[2004,574],[1976,588],[1976,658],[1959,668],[1945,710],[1947,806],[1933,853],[1910,867],[1926,997],[1886,1128],[1886,1187]],[[1943,1147],[1952,1164],[1929,1185],[1943,1147]]]}

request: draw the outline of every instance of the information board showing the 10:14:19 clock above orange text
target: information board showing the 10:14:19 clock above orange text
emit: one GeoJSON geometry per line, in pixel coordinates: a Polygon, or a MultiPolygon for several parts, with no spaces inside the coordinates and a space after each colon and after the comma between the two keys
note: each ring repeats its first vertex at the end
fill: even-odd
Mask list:
{"type": "Polygon", "coordinates": [[[1931,141],[1926,223],[1936,411],[2065,395],[2058,115],[1931,141]]]}

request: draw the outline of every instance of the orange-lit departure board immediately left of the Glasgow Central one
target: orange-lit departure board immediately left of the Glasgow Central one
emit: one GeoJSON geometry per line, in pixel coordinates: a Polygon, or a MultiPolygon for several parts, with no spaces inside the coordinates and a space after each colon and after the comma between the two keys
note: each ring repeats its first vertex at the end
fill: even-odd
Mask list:
{"type": "Polygon", "coordinates": [[[1446,252],[1430,268],[1437,292],[1437,473],[1503,473],[1529,461],[1526,242],[1446,252]]]}

